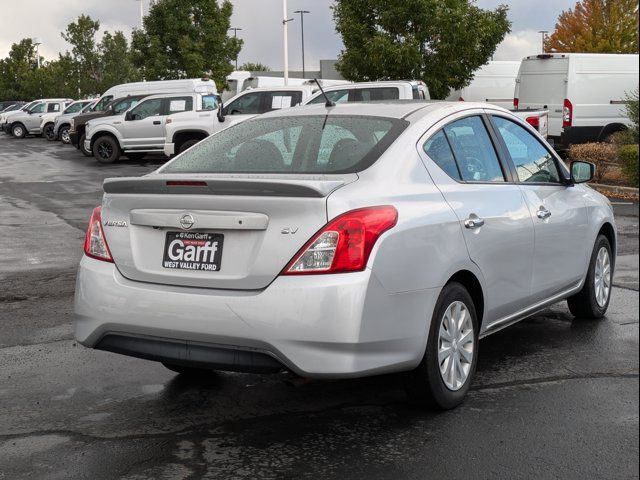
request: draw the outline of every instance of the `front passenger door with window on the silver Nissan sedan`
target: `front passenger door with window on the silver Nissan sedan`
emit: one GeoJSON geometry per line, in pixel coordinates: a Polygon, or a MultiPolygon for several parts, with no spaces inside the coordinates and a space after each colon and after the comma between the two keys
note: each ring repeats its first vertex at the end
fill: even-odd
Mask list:
{"type": "Polygon", "coordinates": [[[493,116],[511,157],[535,227],[532,297],[548,299],[576,286],[593,245],[580,189],[569,186],[556,157],[518,123],[493,116]]]}

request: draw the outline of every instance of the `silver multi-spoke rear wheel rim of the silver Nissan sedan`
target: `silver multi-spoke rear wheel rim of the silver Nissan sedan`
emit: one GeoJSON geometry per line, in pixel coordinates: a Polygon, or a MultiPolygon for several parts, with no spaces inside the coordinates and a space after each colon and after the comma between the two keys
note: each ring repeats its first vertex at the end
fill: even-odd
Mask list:
{"type": "Polygon", "coordinates": [[[467,381],[474,348],[471,314],[463,302],[453,302],[442,317],[438,338],[440,375],[449,390],[460,390],[467,381]]]}

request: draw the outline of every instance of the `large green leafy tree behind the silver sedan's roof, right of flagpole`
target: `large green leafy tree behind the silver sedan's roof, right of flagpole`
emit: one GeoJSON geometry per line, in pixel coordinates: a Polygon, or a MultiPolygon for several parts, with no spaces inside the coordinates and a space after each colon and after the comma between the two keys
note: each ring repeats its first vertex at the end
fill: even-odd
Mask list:
{"type": "Polygon", "coordinates": [[[337,0],[333,10],[345,78],[422,79],[433,98],[468,85],[511,28],[507,7],[470,0],[337,0]]]}

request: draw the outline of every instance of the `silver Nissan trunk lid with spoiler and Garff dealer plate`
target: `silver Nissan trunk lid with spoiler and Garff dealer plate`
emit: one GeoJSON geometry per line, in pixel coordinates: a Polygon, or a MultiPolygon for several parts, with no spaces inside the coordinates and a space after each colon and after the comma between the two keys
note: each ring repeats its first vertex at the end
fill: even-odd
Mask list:
{"type": "Polygon", "coordinates": [[[356,174],[152,174],[109,179],[104,184],[102,221],[114,262],[128,279],[259,290],[327,223],[326,199],[331,192],[357,178],[356,174]],[[202,235],[219,241],[216,248],[221,255],[214,271],[188,269],[198,262],[182,255],[184,245],[172,243],[182,237],[205,238],[202,235]],[[166,263],[176,257],[181,258],[166,263]]]}

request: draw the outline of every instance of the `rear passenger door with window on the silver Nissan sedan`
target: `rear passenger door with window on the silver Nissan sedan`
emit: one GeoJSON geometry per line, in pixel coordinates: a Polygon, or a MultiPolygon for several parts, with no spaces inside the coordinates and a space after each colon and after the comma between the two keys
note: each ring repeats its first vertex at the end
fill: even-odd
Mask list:
{"type": "Polygon", "coordinates": [[[456,213],[471,260],[484,276],[486,327],[530,304],[533,223],[509,182],[481,114],[444,125],[424,144],[429,173],[456,213]],[[431,168],[429,168],[431,165],[431,168]]]}

